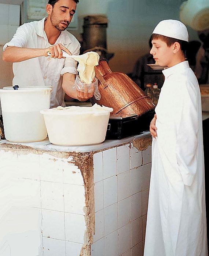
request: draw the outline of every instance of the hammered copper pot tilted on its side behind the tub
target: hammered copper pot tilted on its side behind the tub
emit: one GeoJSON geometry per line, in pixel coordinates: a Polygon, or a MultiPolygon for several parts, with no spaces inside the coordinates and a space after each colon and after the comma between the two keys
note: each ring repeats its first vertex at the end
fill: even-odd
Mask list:
{"type": "Polygon", "coordinates": [[[101,99],[94,99],[94,102],[112,107],[111,114],[141,116],[154,110],[155,105],[150,97],[124,73],[112,72],[106,60],[99,61],[99,65],[95,67],[95,74],[99,82],[101,99]]]}

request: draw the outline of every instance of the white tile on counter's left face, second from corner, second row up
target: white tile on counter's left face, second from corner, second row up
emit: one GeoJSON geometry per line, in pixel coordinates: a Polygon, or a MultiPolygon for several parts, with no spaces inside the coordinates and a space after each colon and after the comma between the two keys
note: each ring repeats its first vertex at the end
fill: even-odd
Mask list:
{"type": "Polygon", "coordinates": [[[65,240],[65,218],[60,211],[42,210],[42,230],[44,237],[65,240]]]}

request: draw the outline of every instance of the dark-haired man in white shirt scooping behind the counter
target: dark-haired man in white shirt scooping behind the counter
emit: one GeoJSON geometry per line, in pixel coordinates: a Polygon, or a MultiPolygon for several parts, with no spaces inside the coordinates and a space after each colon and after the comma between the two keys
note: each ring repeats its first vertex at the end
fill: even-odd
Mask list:
{"type": "Polygon", "coordinates": [[[3,47],[3,60],[14,63],[13,85],[52,86],[51,107],[65,106],[65,93],[81,101],[93,96],[77,96],[73,86],[77,63],[73,58],[62,57],[62,50],[70,55],[80,52],[78,40],[66,31],[78,2],[49,0],[48,17],[23,24],[3,47]]]}

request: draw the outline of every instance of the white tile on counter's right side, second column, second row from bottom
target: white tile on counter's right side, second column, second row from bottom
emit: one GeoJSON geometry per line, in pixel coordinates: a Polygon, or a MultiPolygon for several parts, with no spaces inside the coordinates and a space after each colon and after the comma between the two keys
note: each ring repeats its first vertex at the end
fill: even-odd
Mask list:
{"type": "Polygon", "coordinates": [[[118,228],[117,203],[104,209],[104,235],[108,235],[118,228]]]}

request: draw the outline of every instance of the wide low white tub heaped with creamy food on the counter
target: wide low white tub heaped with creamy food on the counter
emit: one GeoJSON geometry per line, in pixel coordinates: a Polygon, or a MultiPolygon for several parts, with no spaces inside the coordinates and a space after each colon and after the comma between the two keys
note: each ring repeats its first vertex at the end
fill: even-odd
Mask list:
{"type": "Polygon", "coordinates": [[[58,107],[42,110],[49,141],[55,145],[94,145],[104,141],[110,112],[113,109],[95,104],[92,107],[58,107]]]}

